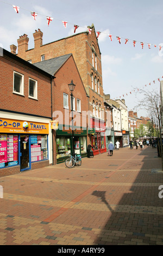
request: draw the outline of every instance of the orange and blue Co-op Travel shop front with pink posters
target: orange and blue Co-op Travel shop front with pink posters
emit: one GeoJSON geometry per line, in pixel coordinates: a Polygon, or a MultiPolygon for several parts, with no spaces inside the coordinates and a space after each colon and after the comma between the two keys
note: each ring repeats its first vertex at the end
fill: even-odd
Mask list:
{"type": "Polygon", "coordinates": [[[49,165],[48,135],[49,123],[0,118],[0,175],[49,165]]]}

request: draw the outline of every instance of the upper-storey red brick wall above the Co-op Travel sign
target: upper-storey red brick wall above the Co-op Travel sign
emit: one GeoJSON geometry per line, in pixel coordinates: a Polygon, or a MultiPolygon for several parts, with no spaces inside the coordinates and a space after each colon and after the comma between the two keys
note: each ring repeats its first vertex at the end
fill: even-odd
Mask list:
{"type": "Polygon", "coordinates": [[[51,80],[7,56],[0,58],[0,109],[51,117],[51,80]],[[14,71],[24,75],[24,96],[13,93],[14,71]],[[29,98],[29,78],[37,81],[37,100],[29,98]]]}

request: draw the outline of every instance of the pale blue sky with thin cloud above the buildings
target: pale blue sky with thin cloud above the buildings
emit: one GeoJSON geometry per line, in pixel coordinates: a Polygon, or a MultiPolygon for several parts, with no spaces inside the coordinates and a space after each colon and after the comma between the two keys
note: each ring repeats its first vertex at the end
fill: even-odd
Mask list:
{"type": "Polygon", "coordinates": [[[34,48],[33,33],[38,28],[47,44],[73,35],[74,25],[80,33],[93,23],[96,33],[101,32],[98,44],[104,93],[112,99],[125,99],[128,111],[137,111],[139,117],[148,115],[135,106],[144,97],[139,94],[141,89],[159,92],[158,79],[163,80],[162,0],[0,0],[0,7],[0,47],[8,51],[23,34],[28,35],[28,49],[34,48]],[[20,7],[18,14],[12,5],[20,7]],[[30,11],[37,13],[36,20],[30,11]],[[53,17],[49,26],[47,16],[53,17]],[[68,22],[66,28],[62,21],[68,22]],[[125,39],[129,39],[127,44],[125,39]]]}

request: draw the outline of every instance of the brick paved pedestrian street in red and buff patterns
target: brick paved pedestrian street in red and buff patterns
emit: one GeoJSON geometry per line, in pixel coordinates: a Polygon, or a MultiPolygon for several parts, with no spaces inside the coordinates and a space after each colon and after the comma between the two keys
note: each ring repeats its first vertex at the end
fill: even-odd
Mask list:
{"type": "Polygon", "coordinates": [[[120,148],[2,177],[0,245],[163,245],[161,169],[155,148],[120,148]]]}

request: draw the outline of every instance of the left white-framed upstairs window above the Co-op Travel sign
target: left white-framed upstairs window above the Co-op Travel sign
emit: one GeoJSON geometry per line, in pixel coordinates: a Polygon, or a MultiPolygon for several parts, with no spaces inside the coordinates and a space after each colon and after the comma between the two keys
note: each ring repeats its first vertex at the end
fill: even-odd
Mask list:
{"type": "Polygon", "coordinates": [[[24,94],[24,75],[14,71],[14,85],[13,92],[18,94],[24,94]]]}

